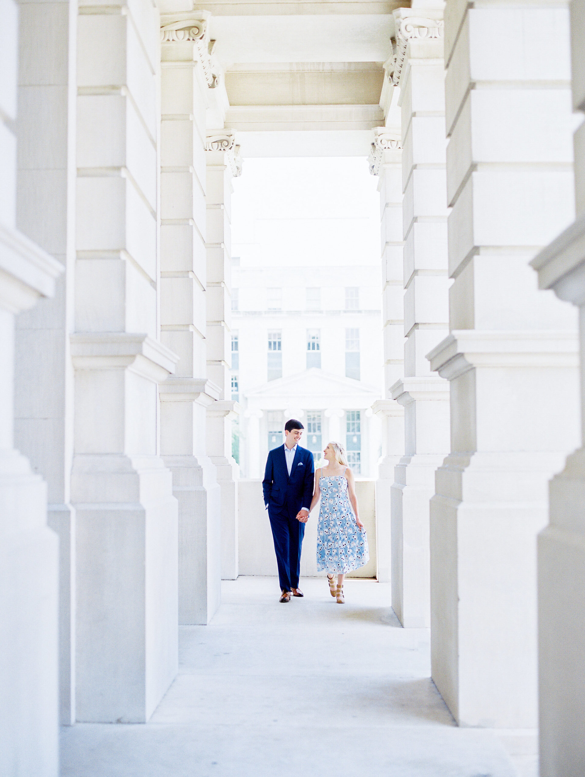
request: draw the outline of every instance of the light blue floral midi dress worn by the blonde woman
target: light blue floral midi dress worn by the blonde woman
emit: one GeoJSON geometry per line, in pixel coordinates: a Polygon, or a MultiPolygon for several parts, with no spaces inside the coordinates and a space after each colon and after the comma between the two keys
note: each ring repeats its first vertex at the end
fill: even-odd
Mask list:
{"type": "Polygon", "coordinates": [[[345,574],[370,560],[366,530],[358,529],[343,475],[321,476],[317,528],[317,569],[345,574]]]}

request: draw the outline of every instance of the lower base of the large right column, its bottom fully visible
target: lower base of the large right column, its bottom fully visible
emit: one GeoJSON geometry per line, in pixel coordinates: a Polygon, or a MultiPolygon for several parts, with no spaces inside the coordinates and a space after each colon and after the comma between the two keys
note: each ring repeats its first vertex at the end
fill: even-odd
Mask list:
{"type": "Polygon", "coordinates": [[[536,537],[562,454],[451,454],[430,502],[432,676],[460,726],[535,728],[536,537]]]}

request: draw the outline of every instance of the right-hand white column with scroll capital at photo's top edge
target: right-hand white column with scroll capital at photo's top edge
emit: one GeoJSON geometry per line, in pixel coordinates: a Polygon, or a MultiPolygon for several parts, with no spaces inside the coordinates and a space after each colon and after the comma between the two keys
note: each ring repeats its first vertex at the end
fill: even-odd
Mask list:
{"type": "Polygon", "coordinates": [[[442,2],[394,12],[388,75],[402,112],[404,456],[392,485],[392,608],[404,626],[430,625],[429,501],[449,450],[449,385],[425,354],[447,333],[447,204],[442,2]]]}

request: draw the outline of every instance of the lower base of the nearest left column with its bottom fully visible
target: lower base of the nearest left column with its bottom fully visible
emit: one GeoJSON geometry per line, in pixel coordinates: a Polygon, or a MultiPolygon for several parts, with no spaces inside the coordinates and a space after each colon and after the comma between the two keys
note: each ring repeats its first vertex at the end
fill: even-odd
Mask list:
{"type": "Polygon", "coordinates": [[[178,671],[177,503],[157,456],[77,455],[77,720],[145,723],[178,671]]]}

